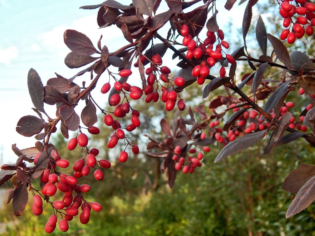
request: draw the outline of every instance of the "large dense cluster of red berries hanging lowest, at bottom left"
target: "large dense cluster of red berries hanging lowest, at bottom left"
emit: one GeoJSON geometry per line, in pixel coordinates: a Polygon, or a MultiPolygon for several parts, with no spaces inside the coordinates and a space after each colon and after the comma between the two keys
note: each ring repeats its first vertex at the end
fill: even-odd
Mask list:
{"type": "MultiPolygon", "coordinates": [[[[72,138],[68,143],[68,149],[73,150],[77,143],[79,145],[85,144],[86,147],[88,139],[86,135],[80,133],[78,138],[72,138]],[[81,135],[81,136],[80,136],[81,135]],[[85,136],[84,136],[85,135],[85,136]]],[[[95,149],[94,153],[97,155],[98,150],[95,149]]],[[[34,157],[34,163],[36,164],[41,153],[38,153],[34,157]]],[[[46,169],[43,170],[40,179],[44,184],[41,190],[41,193],[34,188],[31,188],[33,193],[33,205],[32,212],[34,215],[39,216],[43,213],[43,199],[50,203],[54,209],[54,212],[59,213],[61,219],[59,221],[59,228],[62,232],[66,232],[69,229],[68,221],[73,219],[73,216],[79,214],[79,207],[81,206],[80,222],[82,224],[87,224],[89,222],[90,211],[91,209],[95,211],[101,211],[102,206],[97,202],[88,202],[84,199],[82,193],[88,193],[91,190],[91,187],[88,184],[78,184],[77,178],[86,176],[89,174],[90,167],[96,165],[95,155],[87,155],[87,165],[85,165],[84,159],[79,159],[73,165],[73,170],[75,171],[73,176],[60,173],[55,170],[56,165],[61,168],[67,168],[69,162],[65,159],[61,159],[56,150],[52,150],[49,159],[49,164],[46,169]],[[52,197],[56,194],[57,190],[64,194],[62,200],[51,201],[49,197],[52,197]],[[37,191],[38,194],[35,194],[37,191]],[[73,197],[74,192],[74,197],[73,197]],[[42,199],[43,198],[43,199],[42,199]]],[[[99,165],[104,168],[109,168],[111,166],[110,162],[107,160],[98,161],[99,165]]],[[[101,170],[96,170],[94,176],[97,180],[104,178],[104,174],[101,170]]],[[[45,232],[52,233],[56,228],[57,215],[53,214],[49,217],[48,222],[45,225],[45,232]]]]}

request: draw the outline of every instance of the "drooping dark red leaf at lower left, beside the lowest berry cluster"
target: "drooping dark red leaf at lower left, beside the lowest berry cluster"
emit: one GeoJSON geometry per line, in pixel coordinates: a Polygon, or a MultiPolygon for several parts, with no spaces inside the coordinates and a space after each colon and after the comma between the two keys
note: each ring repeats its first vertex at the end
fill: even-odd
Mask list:
{"type": "Polygon", "coordinates": [[[14,189],[13,193],[13,212],[15,216],[22,215],[28,201],[28,191],[26,183],[22,183],[14,189]]]}

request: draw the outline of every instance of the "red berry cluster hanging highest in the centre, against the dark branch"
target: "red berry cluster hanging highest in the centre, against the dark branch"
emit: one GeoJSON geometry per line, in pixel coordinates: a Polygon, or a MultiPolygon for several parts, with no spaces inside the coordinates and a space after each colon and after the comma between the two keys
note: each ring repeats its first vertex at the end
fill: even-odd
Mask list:
{"type": "MultiPolygon", "coordinates": [[[[182,25],[180,29],[181,35],[183,38],[183,45],[187,47],[188,51],[186,53],[187,59],[200,59],[200,64],[195,66],[192,70],[192,76],[197,77],[197,83],[203,84],[206,77],[210,73],[210,68],[214,66],[217,62],[220,62],[222,65],[220,68],[220,77],[224,78],[226,75],[226,70],[223,66],[223,48],[229,48],[230,45],[228,42],[224,41],[224,33],[222,30],[218,30],[217,32],[207,31],[207,38],[201,42],[199,38],[197,38],[198,43],[192,38],[189,34],[189,28],[187,25],[182,25]],[[217,45],[214,48],[214,43],[218,41],[217,45]]],[[[226,54],[226,53],[225,53],[226,54]]],[[[235,59],[230,55],[226,54],[226,60],[233,64],[235,63],[235,59]]]]}

